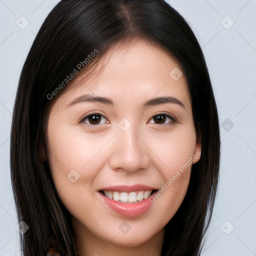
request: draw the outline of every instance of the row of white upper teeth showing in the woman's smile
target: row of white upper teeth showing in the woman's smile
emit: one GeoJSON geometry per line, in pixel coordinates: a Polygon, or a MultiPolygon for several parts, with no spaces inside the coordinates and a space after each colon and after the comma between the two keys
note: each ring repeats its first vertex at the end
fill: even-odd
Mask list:
{"type": "Polygon", "coordinates": [[[151,194],[152,190],[145,190],[145,191],[135,191],[132,192],[117,192],[117,191],[106,191],[104,190],[103,193],[106,197],[110,199],[114,199],[115,201],[121,202],[137,202],[146,199],[151,194]]]}

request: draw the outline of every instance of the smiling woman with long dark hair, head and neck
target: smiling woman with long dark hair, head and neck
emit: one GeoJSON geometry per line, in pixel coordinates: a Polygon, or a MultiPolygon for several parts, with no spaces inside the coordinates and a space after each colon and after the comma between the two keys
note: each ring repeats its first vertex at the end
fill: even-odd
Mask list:
{"type": "Polygon", "coordinates": [[[199,255],[219,171],[200,46],[163,0],[60,1],[24,63],[11,177],[24,255],[199,255]]]}

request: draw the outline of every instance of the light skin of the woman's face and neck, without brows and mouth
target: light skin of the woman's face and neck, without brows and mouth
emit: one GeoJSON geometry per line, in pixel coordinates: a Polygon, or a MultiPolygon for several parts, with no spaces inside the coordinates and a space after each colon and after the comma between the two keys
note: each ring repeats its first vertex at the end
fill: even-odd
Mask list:
{"type": "Polygon", "coordinates": [[[189,157],[200,152],[190,96],[184,75],[178,80],[169,75],[174,67],[181,68],[158,47],[136,41],[115,47],[108,57],[100,74],[87,80],[85,74],[77,75],[79,79],[52,106],[47,160],[58,195],[72,216],[79,255],[157,256],[163,228],[185,196],[191,164],[140,216],[123,216],[106,207],[98,190],[137,183],[160,189],[189,157]],[[109,97],[114,104],[79,102],[67,107],[86,93],[109,97]],[[141,108],[158,96],[175,97],[184,107],[164,103],[141,108]],[[80,122],[91,113],[106,118],[101,116],[94,127],[89,118],[80,122]],[[158,122],[152,118],[160,113],[178,122],[167,116],[158,122]],[[123,118],[131,123],[127,131],[118,126],[123,118]],[[67,178],[72,169],[80,175],[74,183],[67,178]],[[118,228],[123,221],[130,225],[125,234],[118,228]]]}

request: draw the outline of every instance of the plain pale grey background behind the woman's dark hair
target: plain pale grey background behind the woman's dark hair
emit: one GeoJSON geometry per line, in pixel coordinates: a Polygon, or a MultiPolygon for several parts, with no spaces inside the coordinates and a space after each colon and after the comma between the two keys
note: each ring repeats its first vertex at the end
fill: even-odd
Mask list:
{"type": "MultiPolygon", "coordinates": [[[[9,171],[18,78],[57,2],[0,0],[0,256],[19,255],[9,171]],[[25,24],[22,15],[29,21],[24,29],[15,23],[25,24]]],[[[189,21],[203,49],[223,126],[220,183],[202,255],[256,255],[256,0],[168,2],[189,21]]]]}

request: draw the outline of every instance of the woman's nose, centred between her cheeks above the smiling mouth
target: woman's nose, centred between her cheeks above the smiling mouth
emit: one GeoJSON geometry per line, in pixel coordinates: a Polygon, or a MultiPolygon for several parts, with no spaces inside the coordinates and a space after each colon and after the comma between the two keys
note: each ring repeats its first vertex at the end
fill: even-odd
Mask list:
{"type": "Polygon", "coordinates": [[[132,125],[127,131],[117,131],[109,160],[109,166],[113,170],[134,172],[149,167],[149,149],[143,141],[145,136],[142,136],[142,132],[135,134],[135,130],[137,129],[132,125]]]}

